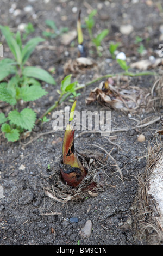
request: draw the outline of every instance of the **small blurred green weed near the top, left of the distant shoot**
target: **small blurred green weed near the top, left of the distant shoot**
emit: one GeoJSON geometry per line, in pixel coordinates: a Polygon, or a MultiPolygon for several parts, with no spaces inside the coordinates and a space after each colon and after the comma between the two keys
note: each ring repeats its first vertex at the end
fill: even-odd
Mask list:
{"type": "Polygon", "coordinates": [[[43,31],[42,35],[48,38],[56,38],[58,35],[61,35],[62,33],[68,31],[68,27],[62,27],[58,29],[53,20],[46,20],[45,24],[48,29],[46,29],[46,31],[43,31]]]}

